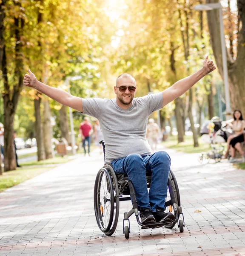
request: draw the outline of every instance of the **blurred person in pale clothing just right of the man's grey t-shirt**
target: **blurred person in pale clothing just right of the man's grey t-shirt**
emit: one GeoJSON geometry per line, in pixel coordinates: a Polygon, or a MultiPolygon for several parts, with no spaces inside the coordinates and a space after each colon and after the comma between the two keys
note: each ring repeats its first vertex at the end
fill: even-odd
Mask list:
{"type": "Polygon", "coordinates": [[[160,128],[155,123],[153,118],[150,118],[147,125],[146,138],[151,146],[151,151],[154,153],[157,150],[157,140],[160,137],[160,128]]]}

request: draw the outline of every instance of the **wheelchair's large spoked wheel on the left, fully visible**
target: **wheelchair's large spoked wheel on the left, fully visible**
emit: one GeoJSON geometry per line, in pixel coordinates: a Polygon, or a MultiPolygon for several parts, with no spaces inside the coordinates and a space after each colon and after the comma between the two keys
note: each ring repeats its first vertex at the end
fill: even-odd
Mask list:
{"type": "Polygon", "coordinates": [[[109,164],[100,169],[95,179],[94,212],[100,230],[111,236],[119,216],[119,189],[117,177],[109,164]]]}

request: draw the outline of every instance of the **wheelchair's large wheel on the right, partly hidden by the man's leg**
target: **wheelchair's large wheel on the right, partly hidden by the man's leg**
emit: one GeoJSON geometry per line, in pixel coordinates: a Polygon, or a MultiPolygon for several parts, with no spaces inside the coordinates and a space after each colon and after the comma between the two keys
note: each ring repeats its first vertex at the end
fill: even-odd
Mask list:
{"type": "MultiPolygon", "coordinates": [[[[179,187],[178,187],[177,180],[176,180],[176,178],[175,178],[174,173],[172,172],[172,170],[170,170],[170,172],[169,172],[169,177],[170,177],[171,183],[172,183],[172,185],[173,185],[176,203],[177,203],[177,205],[180,207],[179,187]]],[[[171,199],[171,198],[170,198],[169,189],[170,189],[170,188],[169,188],[169,186],[168,186],[168,194],[167,194],[166,201],[169,201],[169,200],[171,199]]],[[[174,217],[175,217],[175,215],[178,214],[177,212],[174,211],[172,205],[166,207],[166,211],[165,211],[165,212],[172,212],[172,213],[174,214],[174,217]]],[[[171,223],[171,224],[164,225],[164,227],[173,228],[176,223],[177,223],[177,221],[174,222],[174,223],[171,223]]]]}

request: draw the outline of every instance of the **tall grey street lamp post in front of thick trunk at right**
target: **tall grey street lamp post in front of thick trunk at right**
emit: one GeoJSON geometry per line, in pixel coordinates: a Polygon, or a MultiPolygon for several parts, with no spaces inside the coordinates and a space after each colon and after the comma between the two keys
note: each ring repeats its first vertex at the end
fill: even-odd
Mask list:
{"type": "Polygon", "coordinates": [[[225,47],[225,34],[224,34],[224,23],[222,18],[222,5],[221,3],[208,3],[198,4],[194,6],[197,11],[211,11],[219,9],[219,29],[221,39],[221,50],[222,50],[222,64],[223,64],[223,80],[225,85],[225,116],[226,120],[231,118],[231,100],[228,83],[228,69],[227,69],[227,58],[226,58],[226,47],[225,47]]]}

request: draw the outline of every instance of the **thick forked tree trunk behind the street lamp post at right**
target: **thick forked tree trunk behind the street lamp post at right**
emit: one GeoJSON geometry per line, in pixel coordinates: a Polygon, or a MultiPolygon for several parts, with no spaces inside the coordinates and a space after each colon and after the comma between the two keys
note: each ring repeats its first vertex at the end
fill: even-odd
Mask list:
{"type": "MultiPolygon", "coordinates": [[[[218,3],[219,0],[207,0],[207,3],[218,3]]],[[[228,78],[229,89],[231,95],[231,106],[233,109],[239,109],[245,116],[245,1],[237,1],[239,24],[241,27],[238,31],[238,43],[237,43],[237,57],[236,61],[233,61],[231,55],[227,52],[227,66],[228,66],[228,78]]],[[[214,52],[214,58],[218,67],[219,73],[223,78],[223,64],[222,64],[222,52],[221,52],[221,39],[220,39],[220,27],[219,27],[219,10],[212,10],[207,12],[208,28],[211,39],[211,46],[214,52]],[[218,36],[217,36],[218,35],[218,36]]]]}

